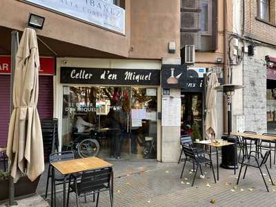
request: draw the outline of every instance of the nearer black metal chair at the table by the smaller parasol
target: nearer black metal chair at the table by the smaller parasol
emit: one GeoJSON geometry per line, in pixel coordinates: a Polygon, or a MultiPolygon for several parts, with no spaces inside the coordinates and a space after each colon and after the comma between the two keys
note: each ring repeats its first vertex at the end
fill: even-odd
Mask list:
{"type": "MultiPolygon", "coordinates": [[[[185,158],[185,161],[184,161],[184,165],[183,165],[183,168],[182,168],[182,172],[181,172],[180,178],[182,178],[182,175],[183,175],[183,172],[184,172],[184,168],[185,168],[185,165],[186,165],[186,161],[190,161],[191,163],[193,163],[193,165],[197,165],[197,169],[195,170],[195,175],[194,175],[194,178],[193,178],[192,186],[195,183],[195,176],[197,175],[198,167],[200,168],[201,175],[203,175],[202,169],[201,169],[201,165],[202,164],[204,164],[204,165],[205,164],[210,165],[210,167],[213,170],[213,176],[214,176],[214,179],[215,179],[215,172],[214,172],[212,160],[211,160],[211,157],[210,157],[209,153],[206,153],[206,154],[209,155],[209,158],[210,158],[210,159],[207,159],[206,157],[203,157],[202,155],[199,155],[197,153],[197,150],[194,149],[194,148],[192,148],[191,146],[185,146],[184,145],[182,147],[183,147],[183,151],[184,151],[184,154],[185,154],[186,158],[185,158]]],[[[215,179],[215,183],[217,183],[216,179],[215,179]]]]}

